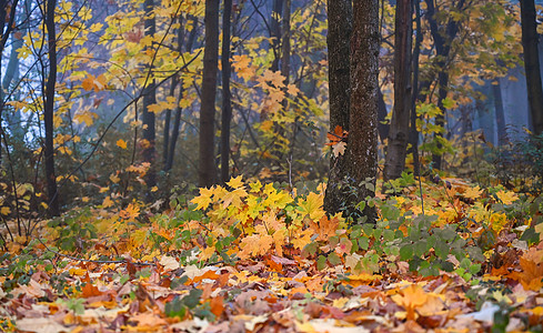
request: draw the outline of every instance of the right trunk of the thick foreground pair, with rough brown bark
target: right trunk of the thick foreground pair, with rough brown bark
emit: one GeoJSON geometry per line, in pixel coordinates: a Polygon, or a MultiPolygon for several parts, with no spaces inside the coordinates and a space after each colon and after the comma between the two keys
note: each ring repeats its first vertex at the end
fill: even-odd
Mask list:
{"type": "MultiPolygon", "coordinates": [[[[351,114],[346,147],[349,175],[356,195],[345,198],[355,206],[375,194],[378,172],[379,0],[354,0],[351,37],[351,114]]],[[[368,222],[375,209],[365,205],[368,222]]],[[[360,222],[360,220],[359,220],[360,222]]]]}

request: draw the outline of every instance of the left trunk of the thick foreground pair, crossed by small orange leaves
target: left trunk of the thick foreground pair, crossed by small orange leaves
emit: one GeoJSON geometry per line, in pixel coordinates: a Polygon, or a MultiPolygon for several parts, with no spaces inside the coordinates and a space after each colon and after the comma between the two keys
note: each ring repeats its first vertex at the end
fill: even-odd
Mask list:
{"type": "MultiPolygon", "coordinates": [[[[330,130],[341,127],[349,131],[351,110],[351,0],[328,0],[328,59],[330,90],[330,130]]],[[[324,196],[324,209],[329,214],[340,211],[343,195],[341,183],[346,175],[344,155],[330,158],[330,173],[324,196]]]]}

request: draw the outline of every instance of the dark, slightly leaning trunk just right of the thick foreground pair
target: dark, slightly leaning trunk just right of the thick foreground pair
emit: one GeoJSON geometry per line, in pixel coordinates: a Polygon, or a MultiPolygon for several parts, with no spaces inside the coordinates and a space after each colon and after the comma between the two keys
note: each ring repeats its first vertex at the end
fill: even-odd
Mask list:
{"type": "Polygon", "coordinates": [[[409,120],[412,104],[412,9],[411,0],[396,1],[394,34],[394,112],[392,113],[389,144],[386,147],[384,181],[400,178],[405,169],[409,120]]]}

